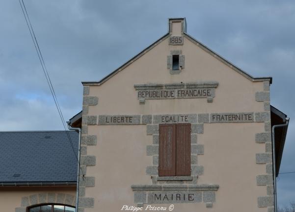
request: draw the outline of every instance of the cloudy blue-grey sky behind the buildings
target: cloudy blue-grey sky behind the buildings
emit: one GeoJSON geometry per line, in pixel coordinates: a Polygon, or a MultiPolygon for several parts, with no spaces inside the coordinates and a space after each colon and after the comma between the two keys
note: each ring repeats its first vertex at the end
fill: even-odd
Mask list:
{"type": "MultiPolygon", "coordinates": [[[[253,76],[272,76],[271,104],[291,118],[281,172],[295,171],[294,0],[24,0],[65,119],[81,81],[99,80],[186,17],[188,33],[253,76]],[[294,120],[294,121],[293,121],[294,120]]],[[[18,0],[0,1],[0,130],[62,129],[18,0]]],[[[278,203],[295,201],[282,174],[278,203]]]]}

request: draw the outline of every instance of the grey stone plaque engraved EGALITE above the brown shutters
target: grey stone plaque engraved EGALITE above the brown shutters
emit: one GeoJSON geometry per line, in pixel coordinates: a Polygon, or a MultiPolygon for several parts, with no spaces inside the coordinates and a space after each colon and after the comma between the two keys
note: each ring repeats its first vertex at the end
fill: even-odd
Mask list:
{"type": "Polygon", "coordinates": [[[196,114],[154,115],[153,124],[163,123],[196,123],[196,114]]]}

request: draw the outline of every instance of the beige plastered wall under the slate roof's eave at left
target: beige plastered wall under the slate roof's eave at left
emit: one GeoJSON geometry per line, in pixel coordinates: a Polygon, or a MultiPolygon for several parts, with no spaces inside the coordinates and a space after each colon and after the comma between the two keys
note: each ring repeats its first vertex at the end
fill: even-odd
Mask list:
{"type": "Polygon", "coordinates": [[[27,206],[35,205],[34,204],[35,202],[31,203],[33,195],[37,196],[38,203],[42,201],[41,199],[39,200],[39,194],[42,194],[42,197],[46,198],[47,203],[60,203],[60,204],[71,203],[69,205],[72,205],[75,207],[76,186],[0,187],[0,211],[1,212],[24,211],[26,210],[27,206]],[[60,198],[61,202],[58,200],[58,197],[57,197],[58,194],[62,194],[61,197],[64,196],[64,198],[60,198]],[[53,202],[54,196],[55,196],[55,200],[53,202]]]}

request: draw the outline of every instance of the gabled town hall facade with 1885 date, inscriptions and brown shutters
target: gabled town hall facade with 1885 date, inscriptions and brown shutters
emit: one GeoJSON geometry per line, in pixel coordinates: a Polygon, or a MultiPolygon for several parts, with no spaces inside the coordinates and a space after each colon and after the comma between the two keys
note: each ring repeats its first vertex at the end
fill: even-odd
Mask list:
{"type": "Polygon", "coordinates": [[[168,28],[101,81],[82,82],[80,210],[274,211],[271,116],[286,116],[271,115],[271,77],[205,47],[183,18],[168,28]]]}

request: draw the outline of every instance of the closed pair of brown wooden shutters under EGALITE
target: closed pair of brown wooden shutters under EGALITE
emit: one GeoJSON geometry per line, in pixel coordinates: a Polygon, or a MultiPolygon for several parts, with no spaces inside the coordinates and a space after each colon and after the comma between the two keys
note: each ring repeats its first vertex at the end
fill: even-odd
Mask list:
{"type": "Polygon", "coordinates": [[[159,125],[159,176],[190,176],[190,124],[159,125]]]}

